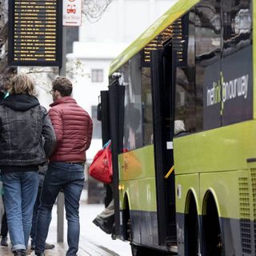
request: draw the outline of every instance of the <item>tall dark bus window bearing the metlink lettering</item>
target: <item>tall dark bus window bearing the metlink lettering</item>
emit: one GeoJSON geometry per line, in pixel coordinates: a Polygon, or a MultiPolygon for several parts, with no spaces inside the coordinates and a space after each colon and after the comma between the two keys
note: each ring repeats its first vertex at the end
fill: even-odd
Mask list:
{"type": "Polygon", "coordinates": [[[199,2],[194,24],[197,126],[206,130],[221,126],[221,2],[199,2]]]}

